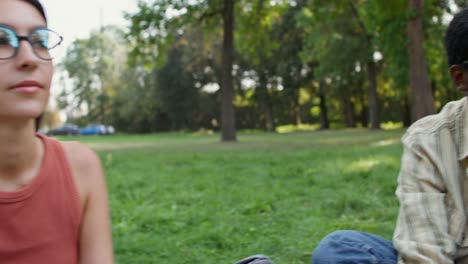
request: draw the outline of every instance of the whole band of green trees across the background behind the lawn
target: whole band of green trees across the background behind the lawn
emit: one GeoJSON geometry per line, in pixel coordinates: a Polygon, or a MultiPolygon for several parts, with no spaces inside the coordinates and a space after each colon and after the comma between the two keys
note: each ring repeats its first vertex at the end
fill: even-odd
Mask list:
{"type": "Polygon", "coordinates": [[[465,5],[139,0],[128,28],[71,45],[58,106],[77,123],[220,131],[226,141],[238,129],[284,125],[408,126],[463,96],[442,38],[447,17],[465,5]]]}

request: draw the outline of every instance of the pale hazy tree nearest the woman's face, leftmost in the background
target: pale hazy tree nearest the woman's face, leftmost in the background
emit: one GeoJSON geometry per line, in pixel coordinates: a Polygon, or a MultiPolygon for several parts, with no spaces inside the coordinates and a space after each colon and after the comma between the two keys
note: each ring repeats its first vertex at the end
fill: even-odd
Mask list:
{"type": "Polygon", "coordinates": [[[89,38],[75,40],[60,63],[71,87],[62,82],[58,105],[73,117],[87,122],[109,123],[111,98],[121,85],[126,69],[123,32],[115,27],[102,28],[89,38]],[[72,110],[71,110],[72,109],[72,110]]]}

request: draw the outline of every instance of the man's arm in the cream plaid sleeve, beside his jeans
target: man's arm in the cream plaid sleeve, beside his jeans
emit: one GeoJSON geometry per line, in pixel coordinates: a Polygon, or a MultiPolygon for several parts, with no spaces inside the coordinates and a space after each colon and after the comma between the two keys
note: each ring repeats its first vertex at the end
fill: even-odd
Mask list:
{"type": "Polygon", "coordinates": [[[400,211],[393,238],[399,263],[454,261],[456,243],[449,234],[445,170],[437,150],[439,143],[430,141],[405,144],[396,191],[400,211]]]}

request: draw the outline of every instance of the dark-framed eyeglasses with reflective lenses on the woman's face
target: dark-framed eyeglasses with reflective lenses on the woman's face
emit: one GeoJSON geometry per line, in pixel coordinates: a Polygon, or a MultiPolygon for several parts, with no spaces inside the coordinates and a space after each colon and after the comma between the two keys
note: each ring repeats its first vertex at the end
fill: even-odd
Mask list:
{"type": "Polygon", "coordinates": [[[34,54],[40,59],[52,60],[55,54],[51,51],[62,43],[63,38],[45,27],[36,28],[27,36],[18,36],[12,28],[0,25],[0,60],[15,57],[21,40],[29,42],[34,54]]]}

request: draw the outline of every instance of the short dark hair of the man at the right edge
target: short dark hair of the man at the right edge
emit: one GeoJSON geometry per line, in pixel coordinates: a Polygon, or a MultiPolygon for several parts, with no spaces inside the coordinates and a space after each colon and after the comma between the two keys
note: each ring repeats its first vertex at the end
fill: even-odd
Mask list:
{"type": "Polygon", "coordinates": [[[468,60],[468,8],[457,13],[445,33],[445,50],[449,66],[468,60]]]}

